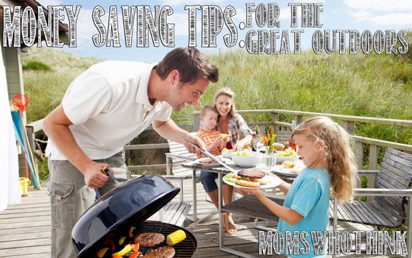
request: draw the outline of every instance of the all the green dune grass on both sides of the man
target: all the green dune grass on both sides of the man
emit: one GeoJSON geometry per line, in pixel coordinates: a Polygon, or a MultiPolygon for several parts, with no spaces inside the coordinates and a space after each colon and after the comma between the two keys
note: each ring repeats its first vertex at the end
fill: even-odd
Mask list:
{"type": "MultiPolygon", "coordinates": [[[[192,124],[192,111],[213,102],[220,87],[236,94],[237,109],[290,109],[352,116],[412,119],[411,55],[300,55],[257,56],[243,50],[209,56],[219,68],[220,80],[211,83],[198,107],[185,107],[172,117],[192,124]]],[[[44,118],[56,107],[65,90],[97,58],[61,50],[36,49],[23,54],[23,64],[41,60],[51,71],[25,70],[25,91],[30,96],[27,118],[44,118]]],[[[291,116],[282,116],[291,120],[291,116]]],[[[268,114],[248,116],[270,120],[268,114]]],[[[356,134],[412,144],[411,129],[356,123],[356,134]]]]}

